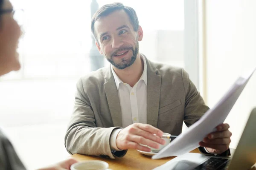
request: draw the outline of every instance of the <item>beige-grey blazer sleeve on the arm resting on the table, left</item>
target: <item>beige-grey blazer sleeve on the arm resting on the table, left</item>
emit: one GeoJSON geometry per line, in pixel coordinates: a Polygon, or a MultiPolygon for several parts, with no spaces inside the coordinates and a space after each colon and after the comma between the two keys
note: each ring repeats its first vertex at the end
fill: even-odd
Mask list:
{"type": "Polygon", "coordinates": [[[110,136],[121,127],[96,127],[95,116],[82,80],[77,83],[74,111],[65,135],[65,147],[70,154],[85,154],[104,158],[122,157],[127,150],[111,151],[110,136]]]}

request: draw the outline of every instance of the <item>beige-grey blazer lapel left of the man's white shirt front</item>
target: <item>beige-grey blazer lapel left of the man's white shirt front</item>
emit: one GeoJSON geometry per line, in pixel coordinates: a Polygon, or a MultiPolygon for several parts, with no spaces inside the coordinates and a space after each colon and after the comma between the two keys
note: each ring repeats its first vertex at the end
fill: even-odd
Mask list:
{"type": "Polygon", "coordinates": [[[108,106],[111,113],[114,126],[122,127],[122,113],[116,88],[115,79],[112,75],[111,68],[105,76],[107,82],[104,83],[104,90],[108,100],[108,106]]]}

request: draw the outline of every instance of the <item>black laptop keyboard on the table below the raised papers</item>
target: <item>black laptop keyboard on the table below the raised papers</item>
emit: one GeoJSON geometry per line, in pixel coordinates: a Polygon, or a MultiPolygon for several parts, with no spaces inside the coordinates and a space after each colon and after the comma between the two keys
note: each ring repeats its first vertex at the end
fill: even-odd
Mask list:
{"type": "Polygon", "coordinates": [[[225,170],[229,159],[210,157],[203,164],[196,167],[194,170],[225,170]]]}

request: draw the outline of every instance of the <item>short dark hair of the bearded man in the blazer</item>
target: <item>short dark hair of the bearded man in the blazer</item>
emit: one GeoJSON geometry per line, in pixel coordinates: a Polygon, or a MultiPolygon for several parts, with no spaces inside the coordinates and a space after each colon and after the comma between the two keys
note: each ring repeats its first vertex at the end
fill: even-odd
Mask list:
{"type": "Polygon", "coordinates": [[[95,39],[96,39],[96,36],[94,34],[94,24],[95,24],[96,20],[98,20],[101,17],[106,17],[109,14],[111,14],[112,12],[117,11],[117,10],[124,10],[130,18],[130,21],[134,28],[134,31],[138,31],[139,20],[138,20],[137,14],[134,11],[134,9],[129,6],[124,6],[122,3],[110,3],[110,4],[106,4],[106,5],[102,6],[101,8],[99,8],[98,11],[96,11],[96,13],[92,17],[91,31],[92,31],[95,39]]]}

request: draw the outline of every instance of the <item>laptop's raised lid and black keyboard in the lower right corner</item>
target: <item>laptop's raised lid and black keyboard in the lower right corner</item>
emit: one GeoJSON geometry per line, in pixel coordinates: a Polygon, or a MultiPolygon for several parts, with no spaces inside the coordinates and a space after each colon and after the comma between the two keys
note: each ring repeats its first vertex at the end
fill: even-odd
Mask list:
{"type": "Polygon", "coordinates": [[[231,158],[211,156],[194,170],[250,170],[256,163],[256,108],[250,113],[247,124],[231,158]]]}

